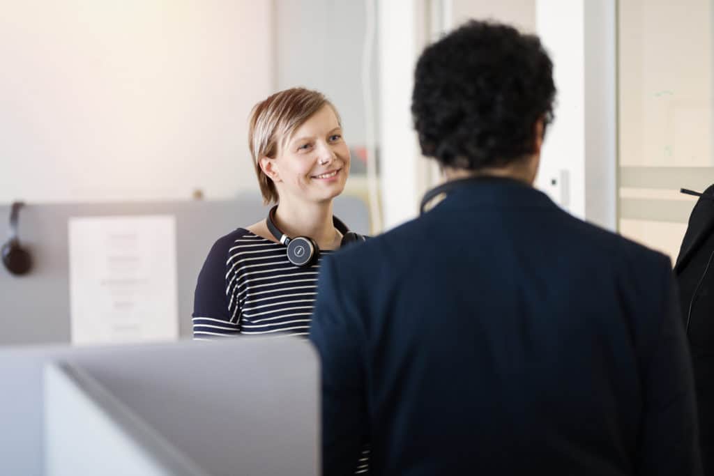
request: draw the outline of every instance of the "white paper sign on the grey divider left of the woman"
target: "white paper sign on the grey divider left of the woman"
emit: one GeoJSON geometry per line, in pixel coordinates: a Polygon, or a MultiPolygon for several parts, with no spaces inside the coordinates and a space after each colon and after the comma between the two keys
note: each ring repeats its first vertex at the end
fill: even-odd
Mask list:
{"type": "Polygon", "coordinates": [[[74,344],[178,338],[176,218],[69,219],[74,344]]]}

